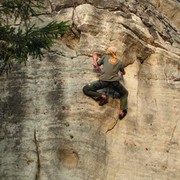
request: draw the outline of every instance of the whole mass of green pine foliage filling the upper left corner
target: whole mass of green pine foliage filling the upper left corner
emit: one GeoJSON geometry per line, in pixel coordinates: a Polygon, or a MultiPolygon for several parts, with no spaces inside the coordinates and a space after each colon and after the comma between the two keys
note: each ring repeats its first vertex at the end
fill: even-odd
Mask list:
{"type": "Polygon", "coordinates": [[[14,63],[26,63],[28,56],[41,59],[44,50],[66,33],[67,22],[52,21],[44,27],[30,22],[43,8],[43,0],[0,1],[0,73],[14,63]]]}

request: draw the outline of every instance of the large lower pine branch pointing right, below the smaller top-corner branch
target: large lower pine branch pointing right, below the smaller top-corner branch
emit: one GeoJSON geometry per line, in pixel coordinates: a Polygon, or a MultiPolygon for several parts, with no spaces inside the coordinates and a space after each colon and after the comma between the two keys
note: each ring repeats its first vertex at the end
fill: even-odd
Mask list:
{"type": "Polygon", "coordinates": [[[32,25],[23,32],[20,28],[0,26],[0,72],[9,71],[14,64],[26,63],[28,56],[41,59],[43,50],[49,50],[55,39],[66,33],[67,22],[53,21],[45,27],[32,25]]]}

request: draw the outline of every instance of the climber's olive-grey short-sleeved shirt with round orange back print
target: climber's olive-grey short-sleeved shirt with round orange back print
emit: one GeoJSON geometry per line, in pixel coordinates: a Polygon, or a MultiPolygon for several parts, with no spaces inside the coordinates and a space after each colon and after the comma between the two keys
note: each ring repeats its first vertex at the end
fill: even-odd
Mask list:
{"type": "Polygon", "coordinates": [[[99,61],[98,66],[103,65],[103,72],[99,79],[103,81],[119,81],[118,72],[124,71],[124,66],[120,60],[110,55],[104,55],[99,61]]]}

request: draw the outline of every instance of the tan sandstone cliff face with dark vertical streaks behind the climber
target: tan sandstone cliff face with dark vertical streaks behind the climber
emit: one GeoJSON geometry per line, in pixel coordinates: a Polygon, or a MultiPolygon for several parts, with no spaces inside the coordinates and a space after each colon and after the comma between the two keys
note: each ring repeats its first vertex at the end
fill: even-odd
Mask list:
{"type": "Polygon", "coordinates": [[[178,180],[178,28],[151,1],[50,4],[46,21],[67,20],[71,30],[43,61],[0,77],[0,179],[178,180]],[[118,99],[100,107],[82,92],[98,79],[92,52],[110,45],[127,72],[122,121],[118,99]]]}

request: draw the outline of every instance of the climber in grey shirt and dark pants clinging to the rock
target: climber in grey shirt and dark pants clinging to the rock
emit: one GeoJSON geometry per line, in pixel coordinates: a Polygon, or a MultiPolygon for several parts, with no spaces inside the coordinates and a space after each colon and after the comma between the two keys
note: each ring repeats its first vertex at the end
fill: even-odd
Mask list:
{"type": "Polygon", "coordinates": [[[95,101],[99,102],[100,106],[108,103],[108,95],[100,93],[97,90],[109,87],[119,93],[120,97],[120,109],[119,109],[119,119],[123,119],[127,114],[128,109],[128,91],[119,82],[119,75],[125,75],[124,66],[121,61],[116,57],[117,49],[116,47],[109,47],[99,60],[97,53],[93,54],[93,66],[99,67],[103,65],[102,73],[99,80],[87,84],[83,87],[83,92],[85,95],[93,98],[95,101]]]}

